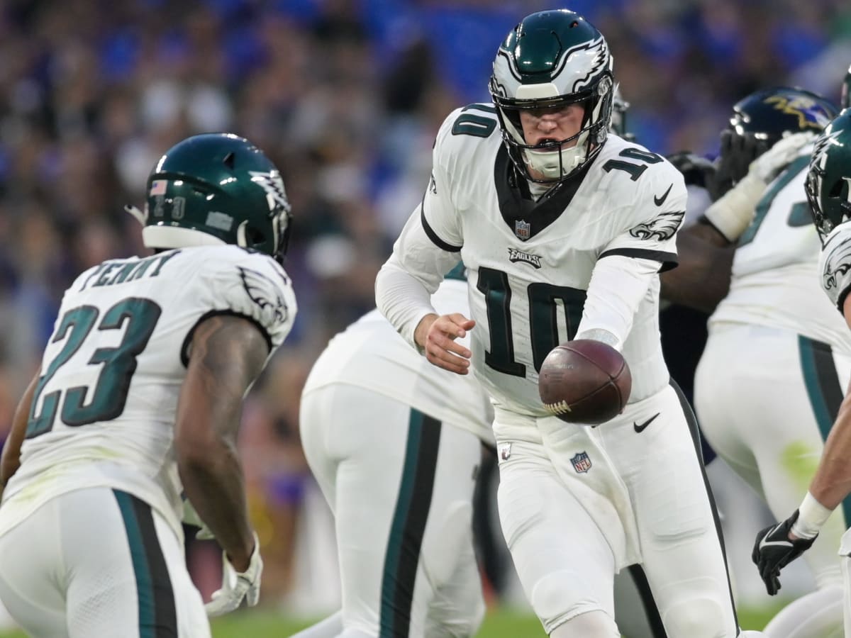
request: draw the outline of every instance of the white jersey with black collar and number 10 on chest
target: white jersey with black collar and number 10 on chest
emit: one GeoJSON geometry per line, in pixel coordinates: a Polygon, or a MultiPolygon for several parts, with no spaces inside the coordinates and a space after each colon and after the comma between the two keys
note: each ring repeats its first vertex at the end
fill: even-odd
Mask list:
{"type": "MultiPolygon", "coordinates": [[[[652,282],[635,300],[634,316],[625,318],[631,330],[622,352],[631,367],[631,401],[658,392],[669,374],[656,273],[676,263],[686,208],[682,174],[663,157],[609,135],[584,176],[532,202],[519,195],[526,184],[512,186],[515,171],[497,124],[493,105],[467,106],[443,122],[431,183],[387,266],[433,292],[443,272],[463,260],[477,322],[471,331],[476,373],[497,406],[543,416],[540,365],[553,347],[573,339],[580,320],[585,328],[595,266],[608,256],[652,260],[652,282]],[[443,253],[436,255],[435,246],[443,253]]],[[[620,278],[624,288],[629,267],[620,278]]],[[[409,338],[388,301],[379,299],[379,307],[409,338]]]]}

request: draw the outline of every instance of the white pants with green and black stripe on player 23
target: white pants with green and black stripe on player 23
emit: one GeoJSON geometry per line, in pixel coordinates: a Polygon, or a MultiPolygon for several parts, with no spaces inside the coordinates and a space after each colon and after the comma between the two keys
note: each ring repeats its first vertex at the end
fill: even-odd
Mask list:
{"type": "MultiPolygon", "coordinates": [[[[31,602],[51,600],[45,591],[61,595],[71,638],[210,635],[177,534],[129,493],[94,487],[63,494],[6,542],[15,544],[15,563],[33,572],[11,584],[15,595],[31,602]]],[[[32,607],[21,622],[40,611],[32,607]]]]}

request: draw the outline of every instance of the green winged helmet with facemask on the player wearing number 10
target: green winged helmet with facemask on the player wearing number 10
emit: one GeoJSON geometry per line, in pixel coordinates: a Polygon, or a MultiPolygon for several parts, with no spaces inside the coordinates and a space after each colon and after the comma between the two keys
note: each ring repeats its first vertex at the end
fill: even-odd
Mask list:
{"type": "Polygon", "coordinates": [[[603,34],[568,9],[523,18],[505,37],[490,78],[502,139],[512,162],[527,179],[553,183],[591,162],[606,140],[612,118],[613,60],[603,34]],[[581,103],[580,132],[568,140],[529,145],[520,113],[581,103]],[[565,143],[575,145],[565,148],[565,143]],[[544,179],[529,173],[534,169],[544,179]]]}

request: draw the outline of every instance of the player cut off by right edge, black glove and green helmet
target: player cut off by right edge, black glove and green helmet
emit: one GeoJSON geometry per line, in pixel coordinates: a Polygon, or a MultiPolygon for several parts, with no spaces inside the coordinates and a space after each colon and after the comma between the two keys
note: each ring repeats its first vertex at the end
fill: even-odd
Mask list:
{"type": "MultiPolygon", "coordinates": [[[[816,141],[807,174],[807,197],[815,226],[825,240],[819,274],[821,287],[845,323],[851,327],[851,109],[846,108],[816,141]]],[[[842,387],[845,387],[844,385],[842,387]]],[[[838,511],[851,493],[851,392],[839,407],[835,423],[825,442],[824,453],[809,489],[789,518],[770,525],[757,534],[753,561],[769,594],[780,590],[780,570],[805,550],[808,557],[819,544],[824,546],[825,530],[839,548],[845,587],[842,598],[845,633],[851,635],[851,532],[835,543],[832,527],[838,511]],[[813,548],[813,549],[810,549],[813,548]]],[[[791,507],[790,507],[791,509],[791,507]]],[[[846,524],[847,524],[847,519],[846,524]]]]}

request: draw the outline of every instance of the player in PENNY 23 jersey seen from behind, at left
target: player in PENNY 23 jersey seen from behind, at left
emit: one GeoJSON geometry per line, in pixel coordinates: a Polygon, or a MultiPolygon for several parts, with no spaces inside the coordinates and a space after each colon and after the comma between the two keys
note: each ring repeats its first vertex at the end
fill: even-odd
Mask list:
{"type": "Polygon", "coordinates": [[[281,176],[248,140],[197,135],[129,211],[155,253],[66,290],[3,449],[0,598],[31,635],[209,636],[183,494],[224,550],[207,614],[260,594],[236,436],[296,312],[281,176]]]}

